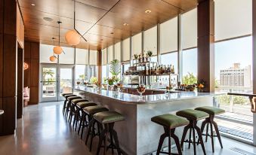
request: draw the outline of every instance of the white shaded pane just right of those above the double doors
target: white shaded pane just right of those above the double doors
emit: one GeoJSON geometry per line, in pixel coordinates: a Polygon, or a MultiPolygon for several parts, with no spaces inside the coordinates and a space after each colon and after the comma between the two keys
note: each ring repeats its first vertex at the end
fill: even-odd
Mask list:
{"type": "Polygon", "coordinates": [[[88,50],[76,48],[76,64],[88,65],[88,50]]]}

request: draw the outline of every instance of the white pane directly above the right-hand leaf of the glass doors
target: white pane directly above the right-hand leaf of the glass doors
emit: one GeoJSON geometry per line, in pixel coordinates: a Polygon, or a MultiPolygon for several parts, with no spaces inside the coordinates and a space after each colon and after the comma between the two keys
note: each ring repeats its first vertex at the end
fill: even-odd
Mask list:
{"type": "Polygon", "coordinates": [[[60,64],[74,64],[75,60],[75,48],[72,47],[62,47],[65,53],[59,55],[60,64]]]}

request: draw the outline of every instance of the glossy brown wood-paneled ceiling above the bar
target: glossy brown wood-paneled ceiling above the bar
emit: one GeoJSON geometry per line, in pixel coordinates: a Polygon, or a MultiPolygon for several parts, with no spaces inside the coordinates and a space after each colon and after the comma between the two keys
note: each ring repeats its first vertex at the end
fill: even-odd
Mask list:
{"type": "MultiPolygon", "coordinates": [[[[58,38],[57,21],[60,20],[61,45],[69,46],[64,35],[73,29],[72,0],[19,0],[19,4],[26,40],[53,44],[51,38],[58,38]],[[44,17],[53,21],[45,21],[44,17]]],[[[88,40],[81,41],[77,47],[87,48],[88,44],[93,50],[108,47],[196,5],[197,0],[76,0],[76,29],[82,34],[87,32],[84,36],[88,40]],[[152,12],[145,14],[147,9],[152,12]],[[123,26],[124,23],[128,26],[123,26]]]]}

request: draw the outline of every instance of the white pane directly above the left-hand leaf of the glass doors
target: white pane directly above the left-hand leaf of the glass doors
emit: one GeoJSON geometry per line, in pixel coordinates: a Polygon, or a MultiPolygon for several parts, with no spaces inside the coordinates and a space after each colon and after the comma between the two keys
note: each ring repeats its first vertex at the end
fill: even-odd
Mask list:
{"type": "Polygon", "coordinates": [[[40,63],[57,63],[51,62],[49,57],[54,54],[54,46],[48,44],[40,44],[40,63]]]}

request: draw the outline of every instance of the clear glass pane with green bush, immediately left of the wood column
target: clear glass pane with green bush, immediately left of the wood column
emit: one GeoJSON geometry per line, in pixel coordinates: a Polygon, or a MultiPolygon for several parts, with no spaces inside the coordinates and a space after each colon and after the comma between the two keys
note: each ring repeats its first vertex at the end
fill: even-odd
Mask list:
{"type": "Polygon", "coordinates": [[[197,48],[184,50],[183,56],[183,84],[196,84],[197,81],[197,48]]]}

